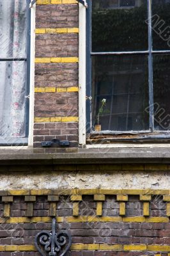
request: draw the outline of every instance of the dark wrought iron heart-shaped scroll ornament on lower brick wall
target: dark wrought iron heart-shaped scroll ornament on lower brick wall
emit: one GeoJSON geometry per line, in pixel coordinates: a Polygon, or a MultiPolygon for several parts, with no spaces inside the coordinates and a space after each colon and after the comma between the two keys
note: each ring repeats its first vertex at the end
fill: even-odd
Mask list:
{"type": "Polygon", "coordinates": [[[56,218],[52,219],[52,230],[42,230],[35,237],[35,246],[42,256],[64,256],[72,244],[66,230],[56,233],[56,218]]]}

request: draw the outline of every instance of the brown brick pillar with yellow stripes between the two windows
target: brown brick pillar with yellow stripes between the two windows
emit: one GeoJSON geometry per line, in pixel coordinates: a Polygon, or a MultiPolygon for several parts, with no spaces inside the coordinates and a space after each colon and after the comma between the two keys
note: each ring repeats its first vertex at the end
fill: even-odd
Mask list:
{"type": "Polygon", "coordinates": [[[76,1],[37,1],[34,146],[58,138],[78,141],[76,1]]]}

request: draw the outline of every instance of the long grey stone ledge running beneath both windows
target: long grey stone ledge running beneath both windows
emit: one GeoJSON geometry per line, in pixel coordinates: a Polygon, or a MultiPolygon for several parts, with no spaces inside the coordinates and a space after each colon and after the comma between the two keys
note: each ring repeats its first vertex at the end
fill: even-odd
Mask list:
{"type": "MultiPolygon", "coordinates": [[[[169,148],[0,148],[0,165],[169,164],[169,148]],[[54,152],[55,153],[50,153],[54,152]]],[[[161,167],[161,166],[160,166],[161,167]]],[[[169,170],[164,168],[164,170],[169,170]]]]}

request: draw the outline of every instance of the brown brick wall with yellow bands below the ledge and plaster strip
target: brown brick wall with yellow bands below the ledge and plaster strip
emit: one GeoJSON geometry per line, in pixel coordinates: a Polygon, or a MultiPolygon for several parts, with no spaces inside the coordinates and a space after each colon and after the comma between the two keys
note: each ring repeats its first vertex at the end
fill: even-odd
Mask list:
{"type": "Polygon", "coordinates": [[[58,230],[66,229],[72,236],[67,256],[169,256],[168,193],[142,189],[1,191],[1,255],[40,256],[34,237],[41,230],[51,230],[52,216],[56,216],[58,230]],[[148,216],[144,216],[144,203],[148,216]],[[53,210],[50,204],[55,204],[53,210]]]}

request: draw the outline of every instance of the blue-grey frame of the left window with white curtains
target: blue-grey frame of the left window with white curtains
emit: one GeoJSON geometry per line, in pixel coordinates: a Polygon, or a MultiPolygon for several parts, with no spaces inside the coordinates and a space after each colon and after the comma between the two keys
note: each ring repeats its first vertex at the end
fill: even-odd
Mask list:
{"type": "Polygon", "coordinates": [[[27,4],[27,35],[26,35],[26,58],[0,58],[0,61],[26,61],[26,136],[20,138],[0,138],[0,146],[23,146],[28,143],[29,135],[29,93],[30,93],[30,53],[31,53],[31,8],[30,0],[25,0],[27,4]]]}

